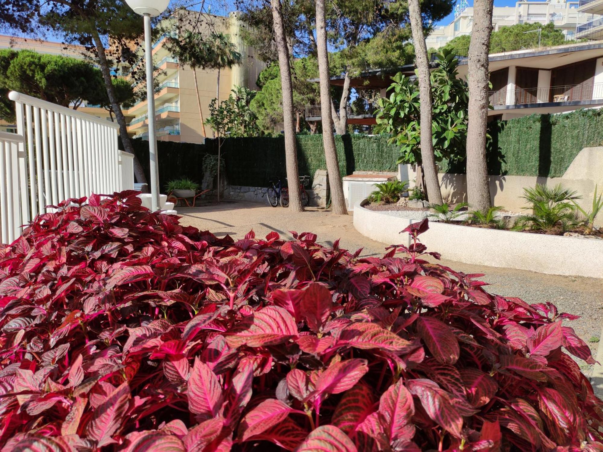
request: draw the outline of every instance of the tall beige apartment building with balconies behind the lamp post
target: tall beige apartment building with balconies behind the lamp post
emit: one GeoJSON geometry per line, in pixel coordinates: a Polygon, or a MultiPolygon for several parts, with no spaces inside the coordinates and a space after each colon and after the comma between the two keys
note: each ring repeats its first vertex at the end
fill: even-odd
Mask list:
{"type": "MultiPolygon", "coordinates": [[[[235,86],[258,89],[257,76],[265,64],[257,60],[253,48],[245,45],[241,38],[242,22],[236,13],[227,17],[213,16],[215,28],[230,35],[236,50],[242,55],[241,64],[220,71],[219,99],[224,100],[235,86]]],[[[159,91],[155,94],[155,121],[158,140],[201,143],[205,139],[195,93],[192,69],[182,67],[166,48],[168,36],[161,36],[153,43],[153,60],[159,69],[157,81],[159,91]]],[[[122,68],[127,76],[127,69],[122,68]]],[[[209,116],[209,104],[216,97],[218,71],[197,69],[198,88],[201,97],[203,118],[209,116]]],[[[135,138],[148,139],[147,101],[140,101],[125,111],[131,116],[128,134],[135,138]]],[[[211,128],[206,133],[212,137],[211,128]]]]}

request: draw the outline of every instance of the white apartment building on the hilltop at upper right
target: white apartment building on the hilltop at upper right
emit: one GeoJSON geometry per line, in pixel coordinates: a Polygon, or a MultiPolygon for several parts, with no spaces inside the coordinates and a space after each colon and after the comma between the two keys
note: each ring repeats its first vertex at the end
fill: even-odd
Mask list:
{"type": "MultiPolygon", "coordinates": [[[[500,27],[516,24],[555,24],[555,28],[563,31],[567,39],[575,39],[577,27],[580,24],[593,20],[591,12],[587,12],[581,5],[585,1],[603,4],[603,0],[548,0],[548,1],[518,1],[515,7],[493,8],[493,31],[500,27]]],[[[603,8],[602,8],[603,10],[603,8]]],[[[438,25],[426,38],[428,48],[438,49],[457,36],[470,34],[473,28],[473,7],[467,0],[459,0],[453,10],[455,17],[448,25],[438,25]]],[[[603,13],[603,11],[601,12],[603,13]]],[[[603,28],[603,27],[602,27],[603,28]]]]}

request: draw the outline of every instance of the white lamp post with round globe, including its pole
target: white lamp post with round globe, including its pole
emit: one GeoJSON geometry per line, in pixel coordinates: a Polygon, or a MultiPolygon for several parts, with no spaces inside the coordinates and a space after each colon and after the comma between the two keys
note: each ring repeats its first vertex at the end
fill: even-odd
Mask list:
{"type": "Polygon", "coordinates": [[[151,47],[151,17],[159,16],[169,0],[125,0],[134,13],[144,17],[145,60],[147,66],[147,107],[149,124],[149,159],[151,169],[151,210],[159,210],[159,169],[157,168],[157,138],[155,137],[155,92],[153,89],[153,48],[151,47]]]}

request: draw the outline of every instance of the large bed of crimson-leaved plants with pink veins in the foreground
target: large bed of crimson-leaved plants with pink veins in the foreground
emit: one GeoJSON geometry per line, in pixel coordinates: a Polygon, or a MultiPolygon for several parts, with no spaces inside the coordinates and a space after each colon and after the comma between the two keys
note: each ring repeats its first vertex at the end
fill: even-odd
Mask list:
{"type": "Polygon", "coordinates": [[[426,262],[426,220],[360,258],[135,195],[0,251],[3,451],[603,451],[575,316],[426,262]]]}

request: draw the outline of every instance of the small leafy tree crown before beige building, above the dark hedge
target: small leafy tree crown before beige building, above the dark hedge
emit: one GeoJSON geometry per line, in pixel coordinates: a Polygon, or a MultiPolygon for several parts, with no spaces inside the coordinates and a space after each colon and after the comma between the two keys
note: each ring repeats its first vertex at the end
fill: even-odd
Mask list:
{"type": "Polygon", "coordinates": [[[256,91],[236,86],[225,101],[216,104],[212,99],[205,124],[216,131],[218,137],[253,137],[260,134],[256,115],[249,108],[256,91]]]}

